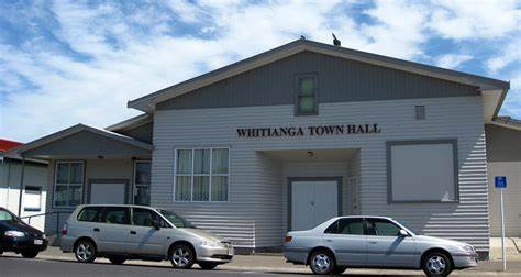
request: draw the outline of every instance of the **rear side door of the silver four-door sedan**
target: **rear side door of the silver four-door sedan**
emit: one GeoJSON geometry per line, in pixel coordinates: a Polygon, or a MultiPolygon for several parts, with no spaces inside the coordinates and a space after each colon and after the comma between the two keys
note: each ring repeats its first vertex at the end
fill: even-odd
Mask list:
{"type": "Polygon", "coordinates": [[[362,218],[339,219],[324,231],[324,240],[340,265],[365,265],[367,239],[362,218]]]}

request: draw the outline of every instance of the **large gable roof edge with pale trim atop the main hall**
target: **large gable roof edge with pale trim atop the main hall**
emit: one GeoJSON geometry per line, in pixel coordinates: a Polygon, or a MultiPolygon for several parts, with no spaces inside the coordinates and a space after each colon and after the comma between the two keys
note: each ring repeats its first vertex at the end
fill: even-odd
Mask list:
{"type": "Polygon", "coordinates": [[[377,66],[389,67],[398,70],[404,70],[439,79],[469,85],[479,88],[481,91],[494,91],[495,96],[492,98],[495,102],[495,109],[492,109],[492,117],[497,115],[499,107],[502,104],[502,101],[505,99],[505,95],[510,88],[510,84],[503,80],[491,79],[477,75],[423,65],[367,52],[344,48],[340,46],[333,46],[308,40],[297,40],[282,46],[276,47],[274,49],[221,67],[213,71],[200,75],[192,79],[170,86],[168,88],[158,90],[147,96],[134,99],[128,102],[128,107],[144,112],[152,112],[155,109],[155,104],[159,102],[304,51],[332,55],[346,59],[358,60],[377,66]],[[499,92],[499,96],[496,96],[497,92],[499,92]]]}

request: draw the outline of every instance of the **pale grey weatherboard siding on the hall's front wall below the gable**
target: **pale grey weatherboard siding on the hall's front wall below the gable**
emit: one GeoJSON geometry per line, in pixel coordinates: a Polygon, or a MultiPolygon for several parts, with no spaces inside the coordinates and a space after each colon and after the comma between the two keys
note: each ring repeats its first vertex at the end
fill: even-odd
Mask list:
{"type": "MultiPolygon", "coordinates": [[[[214,97],[217,101],[218,98],[214,97]]],[[[321,102],[319,111],[318,115],[295,117],[292,103],[158,110],[154,114],[152,206],[174,209],[237,246],[280,246],[287,225],[282,163],[262,152],[357,148],[359,155],[351,163],[346,160],[347,166],[339,164],[345,168],[344,174],[332,173],[358,176],[359,207],[354,213],[390,215],[425,234],[466,241],[478,251],[488,252],[487,164],[479,96],[321,102]],[[418,104],[426,107],[425,120],[415,120],[418,104]],[[239,138],[236,133],[237,128],[250,126],[347,123],[378,123],[381,133],[264,138],[239,138]],[[386,142],[442,138],[458,142],[459,202],[387,203],[386,142]],[[174,149],[190,146],[230,147],[229,202],[174,201],[174,149]]],[[[348,203],[343,207],[344,212],[350,212],[348,203]]]]}

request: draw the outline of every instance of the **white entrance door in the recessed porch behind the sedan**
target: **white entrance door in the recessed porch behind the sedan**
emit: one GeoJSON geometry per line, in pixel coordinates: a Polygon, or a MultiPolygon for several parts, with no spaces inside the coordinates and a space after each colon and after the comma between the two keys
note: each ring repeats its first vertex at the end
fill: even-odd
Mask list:
{"type": "Polygon", "coordinates": [[[337,217],[337,179],[292,180],[291,186],[291,230],[309,230],[337,217]]]}

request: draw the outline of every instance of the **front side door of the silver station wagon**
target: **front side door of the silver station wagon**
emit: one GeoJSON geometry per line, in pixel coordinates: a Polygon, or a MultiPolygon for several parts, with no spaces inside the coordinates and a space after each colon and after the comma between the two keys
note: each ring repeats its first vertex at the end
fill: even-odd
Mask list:
{"type": "Polygon", "coordinates": [[[169,226],[157,212],[145,208],[132,208],[132,228],[129,233],[128,252],[140,255],[164,255],[170,239],[169,226]],[[159,229],[154,226],[159,223],[159,229]]]}

